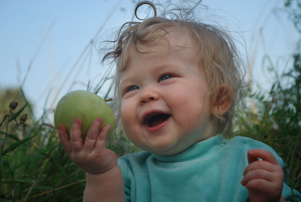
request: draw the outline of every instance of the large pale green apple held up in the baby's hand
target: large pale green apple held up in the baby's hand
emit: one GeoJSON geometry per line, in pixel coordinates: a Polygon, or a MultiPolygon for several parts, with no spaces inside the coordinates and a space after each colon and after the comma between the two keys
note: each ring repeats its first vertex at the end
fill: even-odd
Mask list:
{"type": "Polygon", "coordinates": [[[74,119],[80,118],[83,122],[81,136],[85,140],[91,124],[97,117],[103,119],[101,128],[107,124],[111,126],[107,136],[108,139],[115,126],[114,113],[111,107],[95,93],[76,90],[67,93],[58,101],[54,112],[54,124],[56,129],[58,129],[58,125],[63,124],[67,129],[67,133],[70,134],[74,119]]]}

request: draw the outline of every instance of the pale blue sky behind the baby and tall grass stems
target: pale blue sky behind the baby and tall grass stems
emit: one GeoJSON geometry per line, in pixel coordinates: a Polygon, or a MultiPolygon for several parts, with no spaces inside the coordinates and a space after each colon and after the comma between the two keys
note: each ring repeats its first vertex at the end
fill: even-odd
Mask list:
{"type": "MultiPolygon", "coordinates": [[[[37,116],[42,112],[50,89],[52,90],[47,107],[53,109],[58,99],[70,89],[81,62],[55,99],[62,82],[111,11],[113,14],[101,34],[108,28],[128,21],[134,2],[0,0],[0,88],[17,87],[21,84],[30,59],[35,55],[50,25],[55,22],[23,86],[26,95],[34,103],[37,116]]],[[[263,27],[263,38],[256,49],[252,74],[255,82],[268,89],[270,83],[261,70],[263,55],[268,53],[274,64],[277,59],[282,58],[279,63],[281,72],[299,37],[291,21],[287,20],[287,14],[274,9],[283,8],[284,0],[203,0],[202,4],[226,11],[240,22],[240,30],[246,31],[244,35],[250,60],[254,53],[256,37],[260,27],[263,27]]],[[[90,73],[87,75],[88,57],[79,77],[75,79],[77,83],[74,84],[73,90],[86,89],[84,84],[87,84],[89,79],[94,79],[96,84],[102,78],[103,73],[98,64],[94,44],[92,47],[90,73]]],[[[104,91],[99,95],[103,93],[104,91]]]]}

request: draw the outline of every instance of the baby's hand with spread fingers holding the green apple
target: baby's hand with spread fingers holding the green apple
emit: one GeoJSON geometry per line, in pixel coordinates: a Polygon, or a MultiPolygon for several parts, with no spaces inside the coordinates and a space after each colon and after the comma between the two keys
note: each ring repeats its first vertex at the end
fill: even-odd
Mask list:
{"type": "Polygon", "coordinates": [[[81,138],[82,121],[80,118],[74,120],[70,138],[66,133],[66,127],[58,126],[61,143],[72,161],[84,171],[92,174],[106,172],[117,164],[116,154],[105,147],[105,140],[111,126],[106,125],[99,131],[102,123],[102,118],[96,118],[87,132],[84,144],[81,138]]]}

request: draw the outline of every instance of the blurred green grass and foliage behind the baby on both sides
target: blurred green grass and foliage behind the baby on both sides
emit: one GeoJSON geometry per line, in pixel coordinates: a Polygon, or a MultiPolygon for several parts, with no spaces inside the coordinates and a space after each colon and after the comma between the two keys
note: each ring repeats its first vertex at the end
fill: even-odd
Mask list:
{"type": "MultiPolygon", "coordinates": [[[[290,19],[301,34],[301,2],[287,0],[284,5],[290,19]]],[[[262,59],[264,68],[274,74],[275,81],[268,95],[260,91],[249,92],[246,98],[252,107],[239,112],[240,119],[234,127],[233,136],[246,136],[271,146],[286,162],[289,171],[290,187],[301,192],[301,54],[300,43],[293,53],[293,66],[283,75],[277,75],[274,64],[265,55],[262,59]]],[[[106,81],[104,77],[95,89],[98,92],[106,81]]],[[[107,97],[105,95],[105,97],[107,97]]],[[[27,98],[22,89],[0,89],[0,121],[9,114],[9,103],[14,100],[19,104],[12,110],[17,114],[27,98]]],[[[28,103],[16,120],[8,123],[5,119],[0,126],[2,201],[81,201],[85,188],[85,172],[75,165],[62,148],[58,133],[49,124],[47,114],[53,113],[45,109],[39,119],[34,117],[31,104],[28,103]],[[20,123],[20,116],[28,114],[20,123]],[[17,127],[16,127],[17,126],[17,127]],[[5,155],[3,155],[5,153],[5,155]]],[[[10,114],[11,115],[11,114],[10,114]]],[[[129,145],[122,130],[112,137],[107,147],[117,154],[125,151],[118,147],[117,137],[129,145]],[[116,143],[114,143],[116,142],[116,143]]],[[[139,151],[131,145],[128,152],[139,151]]],[[[0,180],[1,181],[1,180],[0,180]]]]}

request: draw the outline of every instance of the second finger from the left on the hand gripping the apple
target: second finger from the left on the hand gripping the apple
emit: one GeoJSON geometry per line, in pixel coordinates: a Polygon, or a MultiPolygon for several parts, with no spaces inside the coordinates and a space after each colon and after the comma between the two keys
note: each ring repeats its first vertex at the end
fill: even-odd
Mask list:
{"type": "Polygon", "coordinates": [[[70,130],[70,143],[71,148],[74,152],[78,152],[83,147],[83,138],[81,138],[81,130],[82,120],[80,118],[76,118],[71,126],[70,130]]]}

